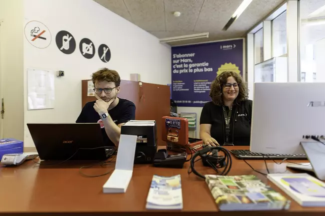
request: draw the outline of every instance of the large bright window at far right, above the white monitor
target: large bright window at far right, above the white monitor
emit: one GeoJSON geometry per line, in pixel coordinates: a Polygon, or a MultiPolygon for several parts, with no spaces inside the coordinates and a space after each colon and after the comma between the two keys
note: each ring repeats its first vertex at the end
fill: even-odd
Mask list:
{"type": "Polygon", "coordinates": [[[325,82],[325,0],[300,0],[299,17],[300,81],[325,82]]]}

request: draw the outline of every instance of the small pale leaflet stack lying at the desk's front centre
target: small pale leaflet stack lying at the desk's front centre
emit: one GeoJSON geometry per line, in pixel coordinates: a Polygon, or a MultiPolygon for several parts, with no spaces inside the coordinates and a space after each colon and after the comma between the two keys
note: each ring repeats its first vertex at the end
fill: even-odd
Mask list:
{"type": "Polygon", "coordinates": [[[146,199],[146,209],[181,210],[182,208],[180,175],[171,177],[154,175],[146,199]]]}

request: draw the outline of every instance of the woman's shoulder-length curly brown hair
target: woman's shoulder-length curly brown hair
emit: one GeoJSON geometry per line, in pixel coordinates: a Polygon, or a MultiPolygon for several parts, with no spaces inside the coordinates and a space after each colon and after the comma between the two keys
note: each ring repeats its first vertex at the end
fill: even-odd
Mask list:
{"type": "Polygon", "coordinates": [[[235,103],[248,99],[248,89],[241,76],[233,71],[224,71],[215,77],[210,88],[209,96],[211,97],[212,102],[218,106],[223,105],[222,87],[230,76],[232,76],[239,84],[239,93],[235,99],[235,103]]]}

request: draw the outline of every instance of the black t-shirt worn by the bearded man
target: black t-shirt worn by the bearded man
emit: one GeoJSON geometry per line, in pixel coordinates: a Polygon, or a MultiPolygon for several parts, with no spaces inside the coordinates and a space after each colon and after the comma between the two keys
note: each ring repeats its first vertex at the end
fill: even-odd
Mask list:
{"type": "MultiPolygon", "coordinates": [[[[118,98],[118,104],[108,111],[109,116],[113,122],[118,125],[126,123],[129,120],[135,119],[135,105],[129,100],[118,98]]],[[[108,138],[99,114],[93,108],[95,101],[88,102],[84,105],[76,123],[99,123],[104,144],[107,146],[114,146],[114,143],[108,138]]]]}

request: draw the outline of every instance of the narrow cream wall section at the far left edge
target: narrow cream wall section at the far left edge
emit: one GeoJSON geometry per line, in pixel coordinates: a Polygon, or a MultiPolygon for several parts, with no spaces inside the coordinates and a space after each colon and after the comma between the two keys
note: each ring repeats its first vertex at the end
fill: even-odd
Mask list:
{"type": "Polygon", "coordinates": [[[0,0],[0,87],[4,98],[4,138],[23,140],[22,0],[0,0]],[[13,12],[14,11],[14,12],[13,12]]]}

